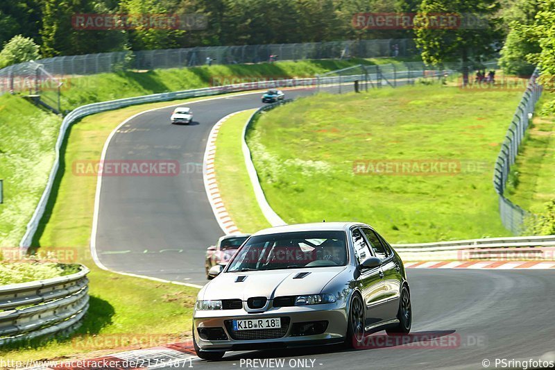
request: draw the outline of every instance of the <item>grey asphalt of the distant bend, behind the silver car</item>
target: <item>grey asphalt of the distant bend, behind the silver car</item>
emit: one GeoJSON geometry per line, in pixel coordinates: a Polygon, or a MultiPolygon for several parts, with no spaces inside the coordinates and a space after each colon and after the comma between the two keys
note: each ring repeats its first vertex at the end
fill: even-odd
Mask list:
{"type": "MultiPolygon", "coordinates": [[[[286,98],[313,94],[288,90],[286,98]]],[[[183,103],[191,125],[172,125],[173,108],[139,115],[112,137],[105,161],[178,161],[178,176],[103,176],[96,232],[99,260],[114,271],[205,284],[204,255],[224,233],[208,203],[202,162],[210,129],[226,115],[262,106],[255,92],[183,103]]]]}

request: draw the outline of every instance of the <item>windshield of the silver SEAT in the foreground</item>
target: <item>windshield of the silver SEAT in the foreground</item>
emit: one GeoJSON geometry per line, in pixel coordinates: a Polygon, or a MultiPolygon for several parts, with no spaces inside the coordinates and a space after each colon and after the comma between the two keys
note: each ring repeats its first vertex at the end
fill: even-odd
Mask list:
{"type": "Polygon", "coordinates": [[[302,231],[250,237],[231,260],[228,272],[344,266],[343,231],[302,231]]]}

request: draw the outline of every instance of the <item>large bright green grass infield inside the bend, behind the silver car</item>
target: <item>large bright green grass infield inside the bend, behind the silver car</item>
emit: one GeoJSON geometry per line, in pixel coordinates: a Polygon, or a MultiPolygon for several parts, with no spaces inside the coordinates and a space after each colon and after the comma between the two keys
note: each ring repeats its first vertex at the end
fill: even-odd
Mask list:
{"type": "Polygon", "coordinates": [[[522,96],[415,86],[299,99],[261,117],[248,144],[288,223],[365,221],[391,242],[509,235],[491,178],[522,96]],[[364,176],[357,160],[451,160],[454,176],[364,176]]]}

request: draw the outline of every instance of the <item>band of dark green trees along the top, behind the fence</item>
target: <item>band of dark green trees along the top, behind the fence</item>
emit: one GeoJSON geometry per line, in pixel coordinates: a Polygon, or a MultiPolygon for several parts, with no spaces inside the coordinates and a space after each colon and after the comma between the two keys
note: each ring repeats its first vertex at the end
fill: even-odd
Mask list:
{"type": "MultiPolygon", "coordinates": [[[[427,62],[473,61],[492,55],[495,42],[502,42],[503,33],[509,32],[510,22],[531,23],[541,1],[547,0],[2,0],[0,43],[21,34],[32,37],[40,45],[43,56],[58,56],[115,50],[416,37],[427,62]],[[352,17],[358,12],[466,12],[485,16],[488,24],[477,29],[361,30],[352,26],[352,17]],[[196,31],[75,29],[71,17],[86,13],[198,13],[207,18],[207,28],[196,31]],[[499,17],[504,19],[504,26],[499,24],[499,17]]],[[[512,30],[503,58],[507,68],[518,72],[529,67],[522,62],[522,56],[539,49],[533,49],[536,44],[529,40],[527,33],[512,30]]]]}

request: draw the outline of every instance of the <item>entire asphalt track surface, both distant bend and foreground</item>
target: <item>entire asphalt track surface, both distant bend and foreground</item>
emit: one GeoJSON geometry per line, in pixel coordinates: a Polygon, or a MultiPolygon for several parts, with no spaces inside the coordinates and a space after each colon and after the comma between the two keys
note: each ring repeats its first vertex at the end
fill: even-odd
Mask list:
{"type": "MultiPolygon", "coordinates": [[[[300,89],[286,96],[312,92],[300,89]]],[[[205,249],[223,235],[203,184],[207,136],[225,115],[261,106],[259,96],[257,92],[184,103],[194,112],[191,126],[169,124],[173,108],[164,108],[119,128],[105,160],[176,160],[181,173],[103,177],[96,251],[106,267],[167,280],[206,282],[205,249]]],[[[495,369],[495,358],[538,360],[547,353],[555,360],[555,269],[408,271],[414,335],[409,348],[377,333],[368,342],[374,348],[234,352],[220,362],[195,360],[193,366],[267,369],[275,368],[275,363],[260,361],[278,358],[284,359],[279,368],[288,369],[484,369],[482,361],[487,359],[495,369]],[[247,362],[254,359],[257,362],[247,362]]],[[[189,367],[189,362],[183,367],[189,367]]]]}

